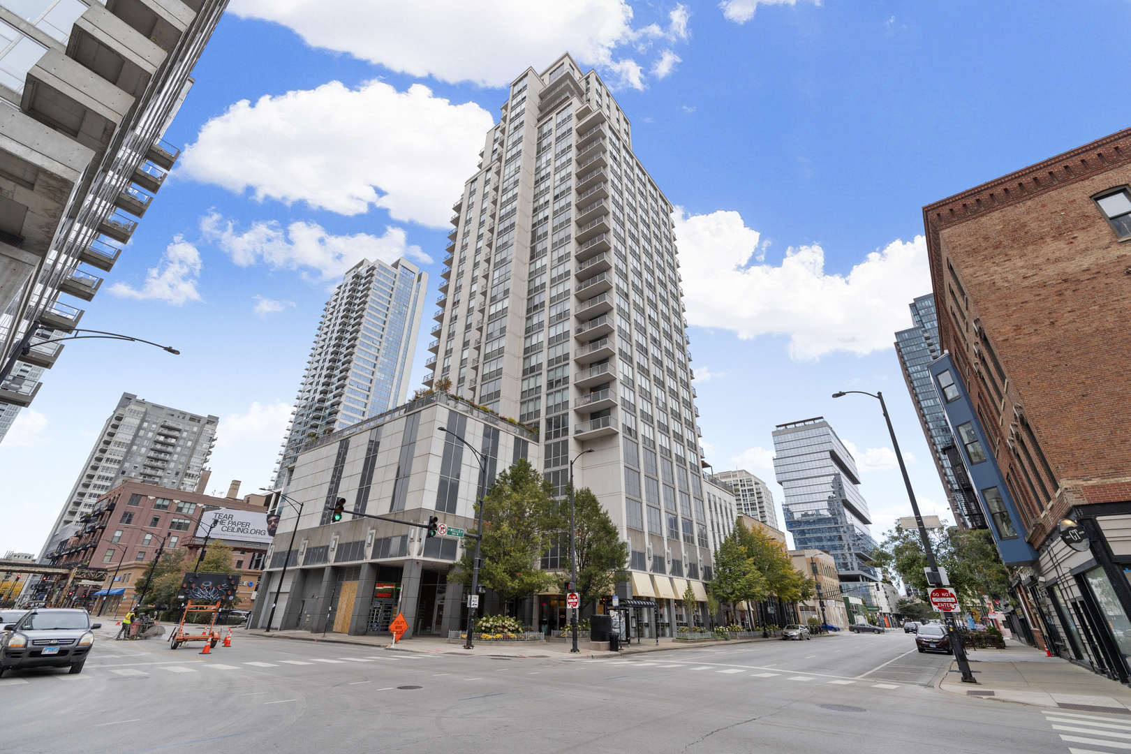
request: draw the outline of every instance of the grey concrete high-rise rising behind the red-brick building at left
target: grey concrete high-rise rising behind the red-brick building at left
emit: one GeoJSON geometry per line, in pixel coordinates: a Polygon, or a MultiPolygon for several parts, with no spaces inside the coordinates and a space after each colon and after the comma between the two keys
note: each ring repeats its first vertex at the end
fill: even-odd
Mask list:
{"type": "Polygon", "coordinates": [[[216,416],[191,414],[123,392],[94,441],[40,556],[70,537],[78,517],[122,482],[193,489],[216,442],[217,422],[216,416]]]}

